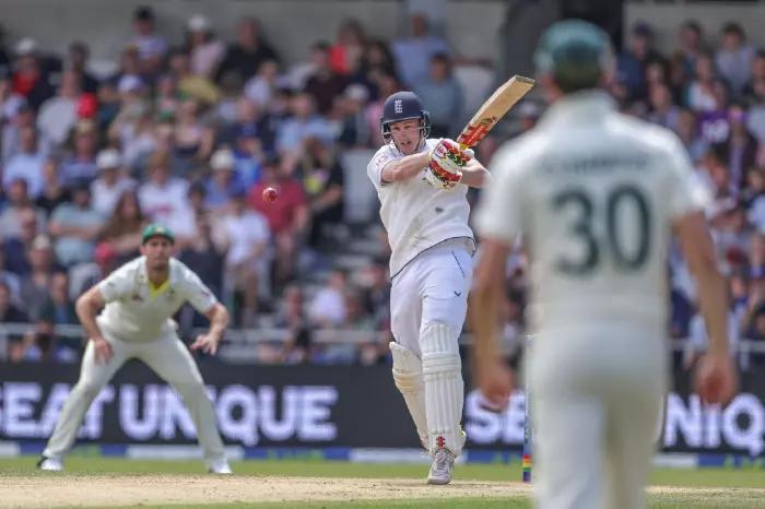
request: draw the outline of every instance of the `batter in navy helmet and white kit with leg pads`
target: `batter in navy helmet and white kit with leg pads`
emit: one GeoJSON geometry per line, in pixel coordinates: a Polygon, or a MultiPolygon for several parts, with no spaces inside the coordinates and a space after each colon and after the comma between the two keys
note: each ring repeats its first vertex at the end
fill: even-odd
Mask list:
{"type": "Polygon", "coordinates": [[[447,484],[466,439],[457,339],[475,250],[466,194],[487,171],[456,142],[427,139],[429,118],[412,92],[386,99],[380,129],[387,144],[367,174],[392,251],[393,381],[433,457],[428,483],[447,484]]]}

